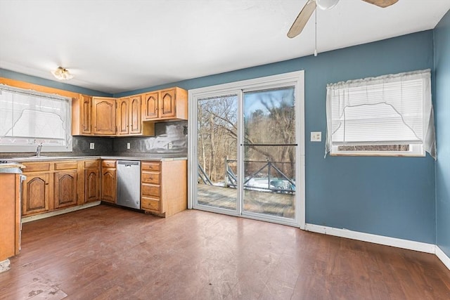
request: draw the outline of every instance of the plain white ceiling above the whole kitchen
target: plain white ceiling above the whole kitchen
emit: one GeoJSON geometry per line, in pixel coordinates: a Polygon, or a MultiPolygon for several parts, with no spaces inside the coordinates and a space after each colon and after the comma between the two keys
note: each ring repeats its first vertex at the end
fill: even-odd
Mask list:
{"type": "MultiPolygon", "coordinates": [[[[286,33],[304,0],[0,1],[0,68],[119,93],[314,53],[314,15],[286,33]]],[[[378,8],[340,0],[317,13],[317,50],[429,30],[450,0],[378,8]]]]}

